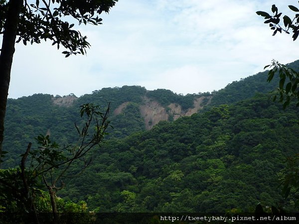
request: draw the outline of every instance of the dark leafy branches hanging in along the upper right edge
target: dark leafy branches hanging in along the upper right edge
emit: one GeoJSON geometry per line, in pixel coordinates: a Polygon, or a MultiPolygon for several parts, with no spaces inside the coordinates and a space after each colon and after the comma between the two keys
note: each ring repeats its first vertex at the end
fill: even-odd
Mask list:
{"type": "MultiPolygon", "coordinates": [[[[289,5],[289,8],[296,12],[293,19],[291,19],[288,15],[283,16],[284,24],[281,24],[280,17],[282,16],[282,12],[278,12],[278,8],[275,4],[272,5],[272,13],[270,15],[265,11],[257,11],[258,15],[263,16],[266,21],[264,23],[269,23],[269,26],[272,30],[274,30],[273,36],[277,34],[277,32],[282,33],[284,31],[287,34],[290,34],[290,30],[293,32],[293,40],[295,41],[299,36],[299,8],[294,5],[289,5]]],[[[299,90],[297,88],[299,83],[299,72],[296,72],[294,69],[287,67],[286,65],[280,64],[278,61],[273,60],[271,65],[265,66],[266,68],[272,68],[268,73],[268,81],[270,82],[275,74],[279,74],[280,82],[279,88],[277,91],[277,95],[280,96],[280,101],[284,102],[284,109],[290,104],[291,99],[295,98],[297,103],[297,107],[299,106],[299,90]],[[286,82],[287,81],[287,82],[286,82]]],[[[277,95],[274,96],[274,100],[276,100],[277,95]]]]}

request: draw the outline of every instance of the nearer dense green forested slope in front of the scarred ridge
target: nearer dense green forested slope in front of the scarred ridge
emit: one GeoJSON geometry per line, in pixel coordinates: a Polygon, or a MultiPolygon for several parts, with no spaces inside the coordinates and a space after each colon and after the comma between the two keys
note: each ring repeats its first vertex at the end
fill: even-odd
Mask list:
{"type": "Polygon", "coordinates": [[[298,149],[299,111],[268,98],[110,140],[61,196],[98,212],[253,211],[259,202],[294,209],[278,187],[298,149]]]}

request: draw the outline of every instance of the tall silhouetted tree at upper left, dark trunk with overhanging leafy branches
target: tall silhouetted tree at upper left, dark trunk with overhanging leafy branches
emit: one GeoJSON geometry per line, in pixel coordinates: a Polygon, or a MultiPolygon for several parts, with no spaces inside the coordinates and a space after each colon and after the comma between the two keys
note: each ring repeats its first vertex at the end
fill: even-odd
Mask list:
{"type": "Polygon", "coordinates": [[[99,14],[109,12],[118,0],[0,0],[0,162],[4,133],[4,117],[10,82],[10,70],[15,42],[40,43],[66,48],[65,57],[85,54],[90,44],[86,36],[72,29],[64,17],[76,19],[79,25],[101,24],[99,14]],[[63,19],[62,19],[63,18],[63,19]],[[18,37],[18,38],[17,38],[18,37]],[[17,39],[16,39],[17,38],[17,39]]]}

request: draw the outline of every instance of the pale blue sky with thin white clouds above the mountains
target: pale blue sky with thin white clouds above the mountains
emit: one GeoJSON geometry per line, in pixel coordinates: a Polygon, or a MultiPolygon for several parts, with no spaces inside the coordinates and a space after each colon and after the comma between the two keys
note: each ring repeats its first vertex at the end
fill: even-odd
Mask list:
{"type": "Polygon", "coordinates": [[[212,92],[299,59],[299,40],[273,31],[255,12],[297,0],[119,0],[99,26],[76,26],[87,55],[64,58],[51,42],[16,44],[8,98],[37,93],[80,97],[138,85],[177,94],[212,92]]]}

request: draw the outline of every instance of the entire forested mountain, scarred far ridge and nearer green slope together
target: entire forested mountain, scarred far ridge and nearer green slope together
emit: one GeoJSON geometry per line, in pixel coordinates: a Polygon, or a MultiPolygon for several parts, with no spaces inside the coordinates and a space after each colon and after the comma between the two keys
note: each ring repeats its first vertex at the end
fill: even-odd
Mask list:
{"type": "MultiPolygon", "coordinates": [[[[299,68],[299,61],[290,66],[299,68]]],[[[80,106],[93,103],[104,112],[111,102],[106,142],[82,175],[65,178],[59,196],[85,200],[97,212],[253,211],[259,202],[294,210],[295,193],[284,201],[278,189],[286,160],[298,152],[299,111],[272,102],[268,93],[279,78],[266,80],[263,72],[186,96],[123,86],[81,97],[9,99],[3,165],[18,165],[40,133],[60,145],[76,142],[80,106]]]]}

